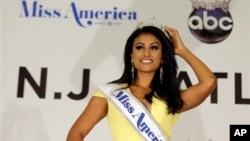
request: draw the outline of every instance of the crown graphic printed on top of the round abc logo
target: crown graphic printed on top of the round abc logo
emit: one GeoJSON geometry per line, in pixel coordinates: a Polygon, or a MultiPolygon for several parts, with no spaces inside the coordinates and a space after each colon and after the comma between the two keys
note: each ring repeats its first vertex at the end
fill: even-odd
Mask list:
{"type": "Polygon", "coordinates": [[[191,0],[192,6],[195,9],[205,8],[207,10],[214,10],[216,8],[228,11],[230,0],[191,0]]]}

